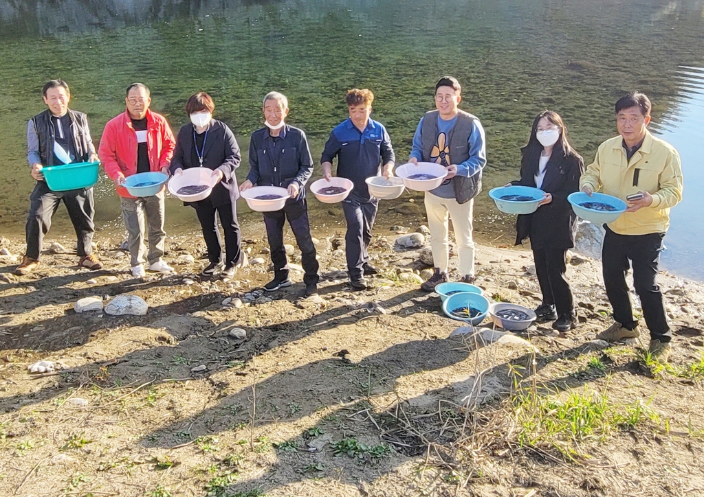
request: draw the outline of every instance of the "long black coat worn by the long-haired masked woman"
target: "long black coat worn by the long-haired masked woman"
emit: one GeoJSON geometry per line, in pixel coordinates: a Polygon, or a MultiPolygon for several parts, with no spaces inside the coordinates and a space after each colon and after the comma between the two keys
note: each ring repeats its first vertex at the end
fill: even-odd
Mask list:
{"type": "MultiPolygon", "coordinates": [[[[584,160],[579,155],[550,157],[546,164],[541,190],[553,195],[553,201],[541,205],[533,214],[522,214],[516,221],[516,245],[530,237],[533,247],[551,245],[567,250],[574,247],[577,214],[567,202],[567,195],[579,191],[584,160]]],[[[535,177],[521,170],[521,179],[513,184],[535,187],[535,177]]]]}

